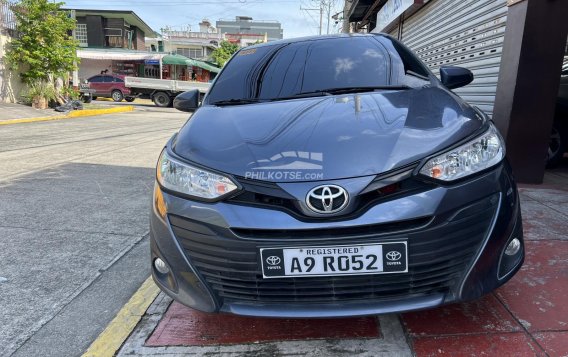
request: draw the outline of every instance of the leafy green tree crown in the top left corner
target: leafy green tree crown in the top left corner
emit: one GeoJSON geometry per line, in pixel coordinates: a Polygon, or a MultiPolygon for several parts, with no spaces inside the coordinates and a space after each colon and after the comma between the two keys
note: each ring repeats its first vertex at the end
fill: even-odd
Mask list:
{"type": "Polygon", "coordinates": [[[78,43],[71,36],[75,20],[61,10],[63,3],[50,1],[21,0],[12,7],[17,37],[6,59],[12,69],[20,70],[27,84],[72,71],[78,62],[78,43]]]}

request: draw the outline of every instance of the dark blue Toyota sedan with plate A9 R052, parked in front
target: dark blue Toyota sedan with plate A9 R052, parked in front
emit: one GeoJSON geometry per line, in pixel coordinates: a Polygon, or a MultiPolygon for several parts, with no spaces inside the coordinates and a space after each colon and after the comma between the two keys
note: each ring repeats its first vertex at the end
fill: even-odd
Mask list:
{"type": "Polygon", "coordinates": [[[167,143],[152,275],[207,312],[328,317],[478,298],[524,259],[503,139],[385,35],[241,49],[167,143]]]}

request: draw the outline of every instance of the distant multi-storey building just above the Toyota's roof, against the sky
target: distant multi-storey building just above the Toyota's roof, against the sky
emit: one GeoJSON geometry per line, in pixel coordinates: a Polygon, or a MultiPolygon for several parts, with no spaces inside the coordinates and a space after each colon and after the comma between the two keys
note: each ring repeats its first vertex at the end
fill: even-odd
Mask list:
{"type": "Polygon", "coordinates": [[[248,16],[236,16],[234,20],[218,20],[216,26],[220,33],[226,34],[228,39],[254,43],[281,40],[284,38],[284,30],[278,21],[253,20],[248,16]]]}

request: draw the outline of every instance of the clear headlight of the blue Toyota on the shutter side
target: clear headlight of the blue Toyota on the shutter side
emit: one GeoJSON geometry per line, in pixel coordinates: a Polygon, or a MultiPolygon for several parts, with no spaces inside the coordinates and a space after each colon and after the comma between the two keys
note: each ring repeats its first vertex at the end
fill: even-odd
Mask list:
{"type": "Polygon", "coordinates": [[[503,138],[491,123],[485,134],[428,160],[420,173],[442,181],[454,181],[495,166],[504,157],[503,138]]]}

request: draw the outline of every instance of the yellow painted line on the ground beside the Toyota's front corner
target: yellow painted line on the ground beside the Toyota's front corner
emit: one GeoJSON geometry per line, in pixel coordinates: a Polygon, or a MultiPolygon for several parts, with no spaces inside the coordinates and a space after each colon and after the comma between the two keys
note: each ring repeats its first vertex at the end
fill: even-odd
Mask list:
{"type": "Polygon", "coordinates": [[[148,307],[158,296],[160,289],[152,277],[140,286],[130,300],[120,309],[115,318],[91,344],[83,357],[114,356],[124,341],[130,336],[148,307]]]}

